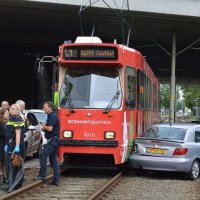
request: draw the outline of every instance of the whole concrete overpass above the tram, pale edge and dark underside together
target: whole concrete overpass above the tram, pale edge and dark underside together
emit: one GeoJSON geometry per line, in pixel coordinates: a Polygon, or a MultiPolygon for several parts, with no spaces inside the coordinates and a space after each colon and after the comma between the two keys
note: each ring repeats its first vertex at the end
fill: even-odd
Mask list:
{"type": "Polygon", "coordinates": [[[18,84],[19,88],[23,85],[23,89],[19,92],[27,88],[34,90],[34,84],[21,69],[26,74],[32,73],[35,57],[56,55],[64,40],[74,41],[78,35],[91,35],[93,27],[94,35],[105,42],[117,39],[118,43],[126,43],[131,28],[129,46],[146,56],[161,82],[170,80],[174,33],[176,80],[199,81],[199,7],[197,0],[1,0],[2,66],[9,66],[4,68],[5,74],[10,69],[16,72],[10,75],[12,78],[16,74],[23,77],[18,84]],[[16,65],[20,71],[14,68],[16,65]]]}

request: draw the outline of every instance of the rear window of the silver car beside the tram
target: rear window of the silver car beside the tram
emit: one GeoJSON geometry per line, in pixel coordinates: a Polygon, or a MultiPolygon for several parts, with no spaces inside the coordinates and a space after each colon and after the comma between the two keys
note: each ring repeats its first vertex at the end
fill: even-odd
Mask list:
{"type": "Polygon", "coordinates": [[[158,127],[153,126],[149,128],[142,137],[170,139],[170,140],[184,140],[186,129],[175,127],[158,127]]]}

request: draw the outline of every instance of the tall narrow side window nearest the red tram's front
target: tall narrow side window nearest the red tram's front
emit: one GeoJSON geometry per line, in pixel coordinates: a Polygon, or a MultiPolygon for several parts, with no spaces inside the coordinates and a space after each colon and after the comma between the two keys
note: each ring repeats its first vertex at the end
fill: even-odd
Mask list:
{"type": "Polygon", "coordinates": [[[134,109],[136,106],[136,74],[132,67],[126,68],[126,107],[134,109]]]}

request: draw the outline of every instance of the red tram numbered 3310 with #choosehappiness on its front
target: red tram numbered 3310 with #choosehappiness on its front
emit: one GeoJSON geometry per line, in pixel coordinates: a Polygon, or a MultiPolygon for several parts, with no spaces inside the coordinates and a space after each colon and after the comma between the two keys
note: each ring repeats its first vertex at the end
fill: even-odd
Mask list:
{"type": "Polygon", "coordinates": [[[87,39],[59,48],[59,160],[123,164],[159,121],[159,82],[135,49],[87,39]]]}

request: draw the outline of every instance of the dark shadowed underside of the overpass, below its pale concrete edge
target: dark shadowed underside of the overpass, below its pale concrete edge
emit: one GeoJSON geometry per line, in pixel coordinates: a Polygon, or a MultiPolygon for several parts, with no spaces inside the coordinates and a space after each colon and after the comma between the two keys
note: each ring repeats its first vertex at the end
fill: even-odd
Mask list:
{"type": "Polygon", "coordinates": [[[18,77],[17,81],[11,81],[10,87],[2,86],[4,92],[1,99],[8,99],[10,91],[13,92],[10,99],[27,99],[31,95],[33,97],[31,91],[35,87],[35,77],[30,81],[29,74],[35,72],[35,58],[57,55],[58,46],[63,41],[74,41],[82,33],[89,36],[93,27],[94,35],[104,42],[117,39],[118,43],[126,44],[128,26],[121,22],[118,15],[132,28],[129,46],[139,50],[146,57],[161,82],[170,81],[173,33],[176,33],[177,54],[197,41],[176,56],[176,81],[199,82],[199,17],[127,10],[120,12],[92,7],[82,12],[80,20],[79,10],[80,6],[72,5],[19,0],[0,1],[0,58],[1,69],[5,74],[1,75],[0,84],[8,78],[15,80],[18,77]]]}

